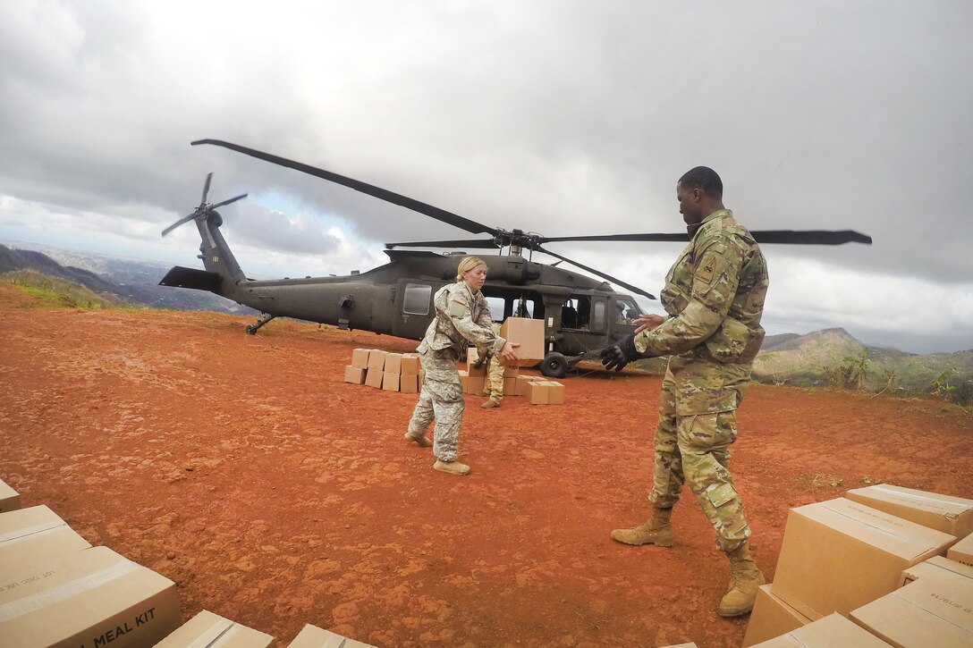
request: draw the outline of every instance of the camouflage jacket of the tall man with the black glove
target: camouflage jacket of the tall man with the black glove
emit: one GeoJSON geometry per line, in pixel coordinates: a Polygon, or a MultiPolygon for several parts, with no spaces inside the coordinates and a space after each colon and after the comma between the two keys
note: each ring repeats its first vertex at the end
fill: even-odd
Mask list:
{"type": "Polygon", "coordinates": [[[661,295],[668,319],[635,336],[635,349],[648,357],[750,363],[764,341],[760,317],[768,284],[753,236],[729,209],[715,211],[668,271],[661,295]]]}

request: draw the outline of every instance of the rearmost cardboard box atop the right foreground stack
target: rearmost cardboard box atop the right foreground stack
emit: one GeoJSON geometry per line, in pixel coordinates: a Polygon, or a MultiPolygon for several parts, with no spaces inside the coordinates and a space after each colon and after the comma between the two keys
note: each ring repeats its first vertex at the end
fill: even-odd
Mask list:
{"type": "Polygon", "coordinates": [[[845,496],[853,502],[957,538],[973,533],[973,499],[890,484],[853,488],[845,496]]]}

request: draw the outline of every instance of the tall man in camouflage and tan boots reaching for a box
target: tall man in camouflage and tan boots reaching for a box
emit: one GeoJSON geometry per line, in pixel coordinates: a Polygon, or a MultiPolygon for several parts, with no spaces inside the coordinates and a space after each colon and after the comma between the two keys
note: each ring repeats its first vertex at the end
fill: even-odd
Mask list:
{"type": "Polygon", "coordinates": [[[611,537],[671,547],[669,517],[687,482],[716,529],[717,547],[730,558],[730,591],[719,614],[734,617],[750,611],[765,582],[750,558],[750,527],[728,465],[737,408],[764,339],[767,265],[753,236],[723,206],[715,171],[688,171],[676,199],[691,240],[666,277],[661,300],[668,317],[636,319],[633,335],[601,353],[602,364],[616,371],[637,358],[670,356],[659,399],[652,517],[611,537]]]}

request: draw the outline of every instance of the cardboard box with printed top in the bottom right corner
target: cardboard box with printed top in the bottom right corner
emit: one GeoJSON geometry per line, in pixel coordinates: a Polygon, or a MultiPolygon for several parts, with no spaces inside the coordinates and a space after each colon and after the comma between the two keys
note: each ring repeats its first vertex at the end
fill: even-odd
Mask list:
{"type": "Polygon", "coordinates": [[[893,646],[973,646],[973,581],[920,578],[850,616],[893,646]]]}

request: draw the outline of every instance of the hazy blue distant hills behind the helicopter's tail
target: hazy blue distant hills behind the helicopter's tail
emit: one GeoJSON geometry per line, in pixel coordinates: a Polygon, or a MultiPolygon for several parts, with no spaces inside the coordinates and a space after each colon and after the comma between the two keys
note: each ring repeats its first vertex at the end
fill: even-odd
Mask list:
{"type": "Polygon", "coordinates": [[[35,270],[73,281],[99,295],[157,308],[257,314],[253,308],[240,306],[212,293],[160,286],[159,282],[169,268],[171,266],[166,264],[54,248],[40,252],[0,245],[0,274],[35,270]]]}

